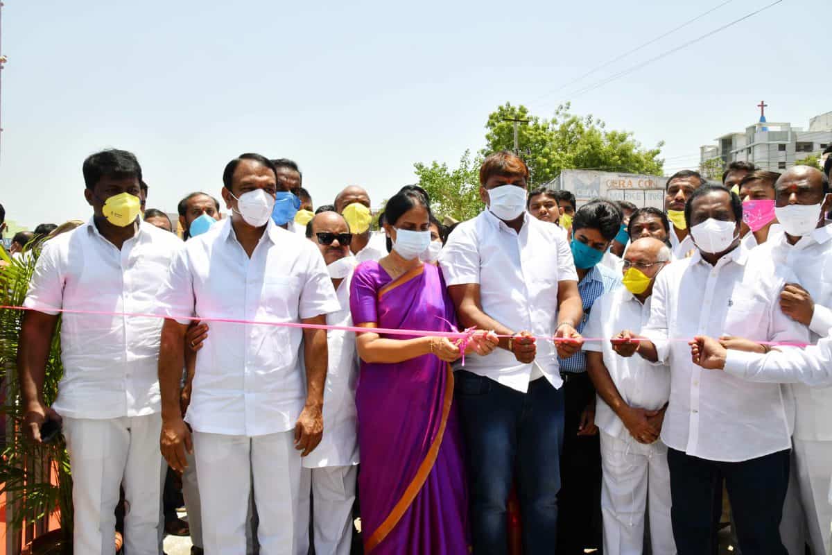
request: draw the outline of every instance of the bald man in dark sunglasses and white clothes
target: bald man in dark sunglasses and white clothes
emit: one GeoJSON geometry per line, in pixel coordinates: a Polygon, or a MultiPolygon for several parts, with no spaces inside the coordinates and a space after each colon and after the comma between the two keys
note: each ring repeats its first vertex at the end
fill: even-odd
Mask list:
{"type": "MultiPolygon", "coordinates": [[[[337,212],[321,212],[306,225],[306,236],[318,246],[338,295],[340,310],[326,316],[328,325],[351,326],[349,282],[356,265],[349,253],[352,234],[337,212]]],[[[324,387],[326,434],[313,453],[303,460],[298,533],[309,542],[310,491],[315,553],[349,555],[352,542],[352,510],[358,477],[359,444],[355,410],[355,386],[359,364],[355,334],[328,330],[329,368],[324,387]]]]}

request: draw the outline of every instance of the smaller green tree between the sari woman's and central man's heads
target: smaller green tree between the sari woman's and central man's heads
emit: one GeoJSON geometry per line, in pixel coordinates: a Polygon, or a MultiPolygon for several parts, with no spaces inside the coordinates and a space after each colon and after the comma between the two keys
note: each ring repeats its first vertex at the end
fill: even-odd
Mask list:
{"type": "Polygon", "coordinates": [[[456,168],[432,161],[430,164],[416,162],[414,170],[418,185],[430,196],[430,207],[441,220],[450,216],[457,221],[470,220],[483,210],[479,198],[480,156],[471,158],[471,151],[465,151],[456,168]]]}

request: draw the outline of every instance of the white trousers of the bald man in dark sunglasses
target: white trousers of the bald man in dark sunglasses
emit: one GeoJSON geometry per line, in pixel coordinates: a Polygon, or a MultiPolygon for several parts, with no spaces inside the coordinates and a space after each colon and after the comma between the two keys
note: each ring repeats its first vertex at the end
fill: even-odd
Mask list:
{"type": "Polygon", "coordinates": [[[302,468],[295,527],[298,553],[310,544],[310,508],[315,555],[349,555],[353,541],[353,503],[358,466],[302,468]],[[310,507],[311,493],[311,507],[310,507]]]}

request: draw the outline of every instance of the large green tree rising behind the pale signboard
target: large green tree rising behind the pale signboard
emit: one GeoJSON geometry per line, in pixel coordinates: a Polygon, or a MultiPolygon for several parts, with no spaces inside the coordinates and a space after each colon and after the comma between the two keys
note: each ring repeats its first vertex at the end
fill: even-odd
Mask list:
{"type": "Polygon", "coordinates": [[[612,131],[596,117],[577,116],[570,104],[557,107],[551,119],[533,116],[527,107],[506,102],[488,116],[487,146],[481,154],[513,150],[514,122],[518,124],[518,151],[531,173],[530,183],[551,181],[562,170],[593,169],[661,175],[664,161],[658,156],[664,142],[645,149],[629,131],[612,131]]]}

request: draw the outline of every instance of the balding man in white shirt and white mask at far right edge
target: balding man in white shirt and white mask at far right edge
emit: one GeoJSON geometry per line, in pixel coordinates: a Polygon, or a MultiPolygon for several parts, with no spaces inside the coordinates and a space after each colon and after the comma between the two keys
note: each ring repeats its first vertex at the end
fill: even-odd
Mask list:
{"type": "MultiPolygon", "coordinates": [[[[824,215],[832,206],[829,183],[819,170],[795,166],[772,185],[783,230],[752,256],[773,260],[795,273],[800,285],[785,286],[780,307],[792,320],[808,326],[810,342],[816,343],[832,328],[832,227],[824,225],[824,215]]],[[[825,495],[832,476],[832,389],[794,384],[791,390],[796,409],[791,466],[795,488],[786,498],[780,533],[792,555],[802,555],[805,543],[812,553],[827,553],[832,527],[832,506],[825,495]]]]}

